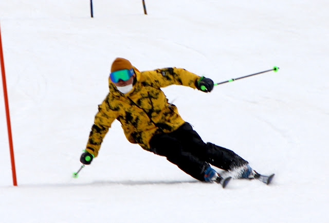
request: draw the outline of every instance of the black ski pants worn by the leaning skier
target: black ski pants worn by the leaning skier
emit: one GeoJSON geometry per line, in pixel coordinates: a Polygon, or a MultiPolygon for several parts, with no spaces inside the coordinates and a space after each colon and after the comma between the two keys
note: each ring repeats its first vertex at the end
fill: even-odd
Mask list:
{"type": "Polygon", "coordinates": [[[153,136],[150,145],[153,153],[167,157],[179,169],[200,181],[205,181],[204,172],[209,164],[229,171],[248,163],[227,148],[205,143],[187,122],[174,132],[153,136]]]}

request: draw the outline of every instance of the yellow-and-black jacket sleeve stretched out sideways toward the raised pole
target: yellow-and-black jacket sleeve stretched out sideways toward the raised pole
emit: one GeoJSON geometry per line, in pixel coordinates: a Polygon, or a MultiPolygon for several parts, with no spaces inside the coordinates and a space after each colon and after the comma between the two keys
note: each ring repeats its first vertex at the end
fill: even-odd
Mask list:
{"type": "Polygon", "coordinates": [[[200,79],[195,73],[182,68],[162,68],[153,71],[144,71],[154,87],[166,87],[172,84],[196,88],[195,83],[200,79]]]}

